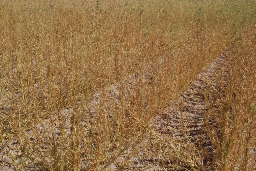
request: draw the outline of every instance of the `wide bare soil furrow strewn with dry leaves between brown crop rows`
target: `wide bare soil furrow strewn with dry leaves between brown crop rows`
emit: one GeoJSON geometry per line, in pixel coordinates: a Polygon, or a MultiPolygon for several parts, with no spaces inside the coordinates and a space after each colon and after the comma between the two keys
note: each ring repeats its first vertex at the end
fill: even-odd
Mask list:
{"type": "MultiPolygon", "coordinates": [[[[170,139],[177,139],[177,142],[189,142],[195,145],[198,150],[203,147],[208,152],[207,155],[203,156],[203,163],[206,165],[206,168],[211,170],[213,147],[210,138],[204,131],[203,124],[205,112],[208,110],[205,108],[205,90],[216,85],[220,77],[226,76],[227,66],[225,64],[225,58],[226,51],[216,58],[208,69],[200,73],[188,89],[182,92],[180,96],[170,100],[164,110],[157,115],[152,122],[155,131],[154,135],[148,135],[148,137],[151,137],[149,138],[151,139],[149,140],[150,142],[147,142],[148,149],[157,150],[155,144],[159,144],[159,141],[154,143],[156,138],[165,142],[168,142],[170,139]]],[[[209,122],[210,125],[215,125],[214,119],[209,122]]],[[[139,146],[137,149],[139,149],[139,146]]],[[[173,169],[175,163],[170,163],[167,154],[154,154],[154,150],[153,153],[150,153],[152,150],[148,149],[139,149],[137,157],[131,159],[133,165],[129,169],[156,171],[173,169]]],[[[118,166],[118,163],[116,165],[118,166]]],[[[117,167],[110,167],[110,169],[114,168],[118,170],[117,167]]]]}

